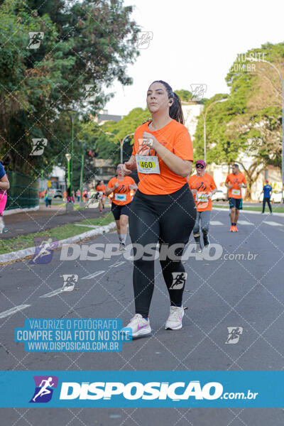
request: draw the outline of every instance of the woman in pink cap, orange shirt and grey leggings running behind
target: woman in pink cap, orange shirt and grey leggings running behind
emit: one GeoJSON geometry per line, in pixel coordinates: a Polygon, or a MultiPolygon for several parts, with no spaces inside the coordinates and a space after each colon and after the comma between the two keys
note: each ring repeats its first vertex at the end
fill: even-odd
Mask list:
{"type": "Polygon", "coordinates": [[[211,175],[206,173],[204,160],[195,163],[196,175],[190,176],[188,185],[195,199],[197,217],[193,228],[193,236],[196,242],[196,251],[200,252],[200,225],[203,234],[204,247],[209,245],[209,223],[212,212],[212,195],[217,191],[216,183],[211,175]]]}

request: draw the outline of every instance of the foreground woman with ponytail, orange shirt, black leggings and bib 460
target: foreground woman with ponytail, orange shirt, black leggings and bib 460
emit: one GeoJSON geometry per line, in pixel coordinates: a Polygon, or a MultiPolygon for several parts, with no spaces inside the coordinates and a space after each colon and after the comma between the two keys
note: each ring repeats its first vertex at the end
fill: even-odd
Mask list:
{"type": "MultiPolygon", "coordinates": [[[[165,329],[180,329],[184,310],[182,293],[187,274],[182,252],[195,224],[196,207],[187,176],[193,161],[192,141],[180,98],[163,80],[148,88],[147,106],[152,119],[136,129],[131,158],[123,173],[138,170],[138,190],[129,215],[132,244],[160,247],[160,266],[170,296],[170,315],[165,329]]],[[[147,249],[146,249],[147,250],[147,249]]],[[[146,252],[145,250],[145,252],[146,252]]],[[[147,253],[147,252],[146,252],[147,253]]],[[[132,336],[150,334],[148,312],[154,290],[154,259],[138,257],[133,265],[136,314],[127,327],[132,336]]]]}

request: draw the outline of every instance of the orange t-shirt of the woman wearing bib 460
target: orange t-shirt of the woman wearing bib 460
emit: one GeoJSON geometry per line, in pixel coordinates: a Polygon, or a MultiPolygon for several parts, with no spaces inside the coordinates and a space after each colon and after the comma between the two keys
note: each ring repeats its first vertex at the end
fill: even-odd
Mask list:
{"type": "Polygon", "coordinates": [[[148,124],[149,121],[136,129],[132,155],[153,155],[157,157],[160,174],[138,172],[138,190],[148,195],[172,194],[185,185],[187,178],[182,178],[182,176],[170,170],[168,165],[163,162],[153,148],[143,145],[143,143],[141,144],[141,141],[138,141],[138,139],[142,139],[144,131],[147,131],[155,136],[157,141],[165,146],[165,148],[168,148],[171,153],[182,158],[182,160],[193,161],[190,133],[188,133],[187,128],[183,124],[178,123],[174,119],[163,126],[162,129],[156,131],[149,130],[148,124]]]}

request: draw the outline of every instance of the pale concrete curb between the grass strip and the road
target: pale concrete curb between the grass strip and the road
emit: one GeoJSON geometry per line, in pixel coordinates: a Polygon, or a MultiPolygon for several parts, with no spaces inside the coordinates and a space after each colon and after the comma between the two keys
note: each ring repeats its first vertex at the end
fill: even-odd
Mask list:
{"type": "MultiPolygon", "coordinates": [[[[92,231],[84,232],[83,234],[78,234],[75,236],[70,236],[69,238],[58,241],[58,248],[62,246],[62,244],[66,243],[77,243],[85,238],[90,238],[92,236],[106,234],[116,227],[116,222],[111,222],[108,225],[97,226],[96,229],[92,229],[92,231]]],[[[23,259],[28,256],[32,256],[35,253],[35,247],[28,247],[28,249],[22,249],[18,251],[11,251],[11,253],[5,253],[0,255],[0,263],[7,263],[11,261],[17,261],[18,259],[23,259]]]]}

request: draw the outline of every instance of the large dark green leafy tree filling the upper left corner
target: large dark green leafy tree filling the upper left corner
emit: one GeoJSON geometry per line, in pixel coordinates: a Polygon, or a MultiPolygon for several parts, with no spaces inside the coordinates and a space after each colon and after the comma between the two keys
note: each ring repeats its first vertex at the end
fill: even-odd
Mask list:
{"type": "Polygon", "coordinates": [[[0,154],[12,168],[38,177],[62,163],[70,124],[65,111],[76,106],[80,119],[96,114],[114,79],[131,84],[126,64],[138,50],[138,27],[122,0],[6,0],[0,10],[0,154]],[[28,33],[40,31],[37,49],[28,33]],[[86,85],[92,97],[86,99],[86,85]],[[31,156],[32,140],[48,140],[43,155],[31,156]]]}

